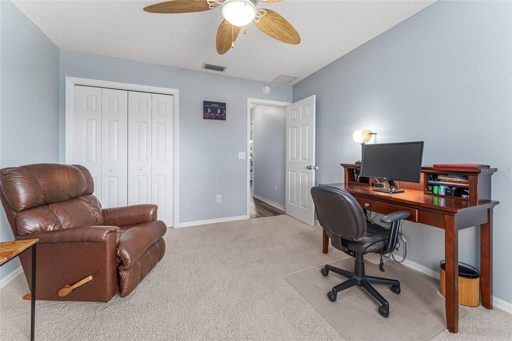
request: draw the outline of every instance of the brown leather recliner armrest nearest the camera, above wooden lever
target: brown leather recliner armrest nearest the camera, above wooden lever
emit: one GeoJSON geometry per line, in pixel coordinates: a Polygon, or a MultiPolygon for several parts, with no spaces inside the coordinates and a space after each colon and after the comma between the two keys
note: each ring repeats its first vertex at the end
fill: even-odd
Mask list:
{"type": "Polygon", "coordinates": [[[117,226],[83,226],[62,230],[29,233],[18,236],[16,240],[39,239],[39,243],[105,243],[109,236],[119,241],[120,231],[117,226]]]}

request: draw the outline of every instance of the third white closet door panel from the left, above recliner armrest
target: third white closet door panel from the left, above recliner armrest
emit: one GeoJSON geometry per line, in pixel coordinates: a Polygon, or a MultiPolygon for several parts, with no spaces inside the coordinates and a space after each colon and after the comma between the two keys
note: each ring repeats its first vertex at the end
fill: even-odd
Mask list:
{"type": "Polygon", "coordinates": [[[151,203],[151,94],[128,93],[128,204],[151,203]]]}

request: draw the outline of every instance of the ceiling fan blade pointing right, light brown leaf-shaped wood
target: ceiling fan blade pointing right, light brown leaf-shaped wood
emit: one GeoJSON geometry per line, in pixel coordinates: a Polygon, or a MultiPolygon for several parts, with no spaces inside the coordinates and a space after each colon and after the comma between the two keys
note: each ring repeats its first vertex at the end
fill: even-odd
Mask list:
{"type": "Polygon", "coordinates": [[[285,18],[275,11],[267,8],[264,8],[264,10],[267,14],[262,16],[258,23],[254,21],[254,25],[256,25],[260,31],[274,39],[286,42],[286,44],[300,44],[301,36],[298,35],[297,31],[295,31],[293,26],[291,26],[285,18]]]}

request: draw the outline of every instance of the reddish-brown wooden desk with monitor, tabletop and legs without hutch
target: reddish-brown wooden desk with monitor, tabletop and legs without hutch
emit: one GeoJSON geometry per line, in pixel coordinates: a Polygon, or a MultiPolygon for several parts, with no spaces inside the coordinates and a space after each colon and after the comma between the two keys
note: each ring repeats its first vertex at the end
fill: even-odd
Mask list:
{"type": "MultiPolygon", "coordinates": [[[[458,231],[480,225],[482,306],[493,308],[493,208],[499,204],[498,201],[487,200],[473,204],[468,200],[425,195],[423,191],[414,189],[387,194],[376,192],[373,187],[364,184],[335,183],[326,186],[346,189],[364,209],[381,214],[406,210],[411,212],[407,220],[444,229],[446,328],[452,333],[456,333],[459,328],[458,231]]],[[[323,230],[323,252],[327,253],[328,248],[329,237],[323,230]]]]}

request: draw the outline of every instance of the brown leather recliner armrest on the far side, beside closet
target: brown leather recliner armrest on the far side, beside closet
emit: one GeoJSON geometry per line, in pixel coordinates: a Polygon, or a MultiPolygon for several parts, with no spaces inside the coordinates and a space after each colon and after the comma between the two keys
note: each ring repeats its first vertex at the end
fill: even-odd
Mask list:
{"type": "Polygon", "coordinates": [[[157,210],[158,206],[154,204],[104,208],[103,224],[121,226],[157,220],[157,210]]]}

